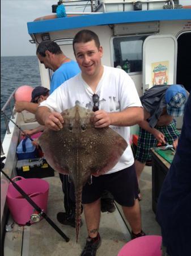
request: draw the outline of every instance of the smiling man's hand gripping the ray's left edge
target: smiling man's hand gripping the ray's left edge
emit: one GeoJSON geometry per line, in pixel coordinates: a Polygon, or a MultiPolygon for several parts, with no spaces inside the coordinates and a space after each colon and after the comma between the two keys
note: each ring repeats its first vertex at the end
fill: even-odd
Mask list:
{"type": "Polygon", "coordinates": [[[48,112],[44,117],[44,124],[51,130],[59,131],[62,129],[63,117],[58,112],[48,112]]]}

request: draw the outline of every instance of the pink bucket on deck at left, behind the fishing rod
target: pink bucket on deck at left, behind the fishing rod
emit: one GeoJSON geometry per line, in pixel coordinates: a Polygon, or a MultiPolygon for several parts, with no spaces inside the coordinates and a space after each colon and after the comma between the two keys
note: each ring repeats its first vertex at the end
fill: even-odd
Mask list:
{"type": "MultiPolygon", "coordinates": [[[[21,180],[16,181],[16,184],[46,213],[49,183],[42,179],[24,179],[21,176],[16,176],[12,180],[18,177],[21,180]]],[[[7,191],[7,205],[12,218],[20,225],[26,225],[26,222],[30,220],[31,214],[34,211],[32,205],[23,198],[12,183],[9,184],[7,191]]]]}

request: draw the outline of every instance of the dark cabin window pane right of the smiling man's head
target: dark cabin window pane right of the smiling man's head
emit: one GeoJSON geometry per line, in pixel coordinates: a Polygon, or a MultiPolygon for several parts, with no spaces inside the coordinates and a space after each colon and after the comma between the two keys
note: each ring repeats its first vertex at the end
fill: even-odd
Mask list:
{"type": "Polygon", "coordinates": [[[146,36],[113,38],[113,66],[127,73],[142,72],[142,46],[146,36]]]}

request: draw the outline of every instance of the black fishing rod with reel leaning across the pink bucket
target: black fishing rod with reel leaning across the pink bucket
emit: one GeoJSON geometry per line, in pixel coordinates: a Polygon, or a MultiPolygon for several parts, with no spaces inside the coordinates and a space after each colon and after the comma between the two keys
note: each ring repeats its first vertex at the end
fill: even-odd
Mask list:
{"type": "MultiPolygon", "coordinates": [[[[15,183],[15,181],[11,180],[10,177],[2,170],[3,167],[5,166],[5,164],[3,163],[3,160],[6,157],[3,156],[1,157],[1,172],[3,175],[5,175],[5,177],[12,183],[12,185],[15,187],[15,189],[17,191],[19,191],[19,193],[28,201],[29,204],[32,205],[33,208],[35,208],[36,212],[35,214],[31,215],[31,220],[33,222],[37,222],[40,220],[40,217],[44,217],[45,220],[61,235],[61,237],[63,237],[65,239],[66,242],[70,241],[70,238],[67,237],[60,228],[58,228],[58,226],[46,215],[45,212],[43,212],[43,210],[41,210],[41,208],[31,199],[31,197],[29,197],[26,192],[23,191],[22,188],[19,187],[18,184],[15,183]]],[[[30,225],[29,222],[26,223],[26,225],[30,225]]]]}

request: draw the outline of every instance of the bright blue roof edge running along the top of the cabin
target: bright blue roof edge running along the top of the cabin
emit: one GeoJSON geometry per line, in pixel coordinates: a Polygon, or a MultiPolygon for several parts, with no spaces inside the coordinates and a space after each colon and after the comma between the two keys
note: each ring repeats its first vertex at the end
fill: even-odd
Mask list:
{"type": "Polygon", "coordinates": [[[28,34],[70,30],[117,23],[149,22],[155,20],[191,20],[191,9],[122,11],[93,13],[49,20],[28,22],[28,34]]]}

